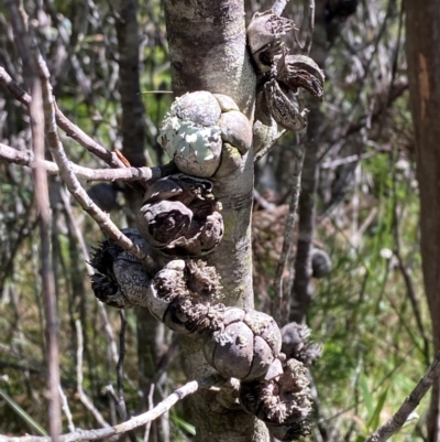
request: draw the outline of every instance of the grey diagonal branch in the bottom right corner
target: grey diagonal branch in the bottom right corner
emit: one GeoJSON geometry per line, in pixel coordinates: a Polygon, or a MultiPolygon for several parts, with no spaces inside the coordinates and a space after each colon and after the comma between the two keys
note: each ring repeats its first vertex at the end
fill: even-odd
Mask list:
{"type": "Polygon", "coordinates": [[[440,352],[437,354],[436,359],[425,373],[424,377],[417,384],[416,388],[410,392],[410,395],[405,399],[405,402],[396,411],[396,413],[386,422],[384,425],[380,427],[365,442],[385,442],[393,434],[399,431],[405,422],[407,421],[409,414],[416,409],[420,403],[420,400],[432,387],[432,384],[440,376],[440,352]]]}

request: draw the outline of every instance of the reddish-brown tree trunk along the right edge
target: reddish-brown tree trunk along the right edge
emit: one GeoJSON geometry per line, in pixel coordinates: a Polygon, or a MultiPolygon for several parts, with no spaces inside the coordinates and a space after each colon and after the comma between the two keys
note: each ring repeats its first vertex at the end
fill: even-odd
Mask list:
{"type": "MultiPolygon", "coordinates": [[[[420,233],[425,290],[432,321],[433,344],[440,349],[440,2],[405,1],[408,77],[416,131],[420,191],[420,233]]],[[[440,440],[440,379],[432,386],[428,441],[440,440]]]]}

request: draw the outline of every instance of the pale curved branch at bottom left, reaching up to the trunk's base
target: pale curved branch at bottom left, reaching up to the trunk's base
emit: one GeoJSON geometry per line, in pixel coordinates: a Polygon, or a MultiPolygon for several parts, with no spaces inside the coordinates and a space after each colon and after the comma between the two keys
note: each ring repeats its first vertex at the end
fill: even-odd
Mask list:
{"type": "MultiPolygon", "coordinates": [[[[169,395],[165,400],[154,407],[152,410],[146,411],[140,416],[135,416],[128,421],[120,423],[114,427],[107,427],[96,430],[77,430],[74,433],[67,433],[59,436],[59,442],[76,442],[80,440],[96,441],[97,439],[109,438],[113,434],[125,433],[130,430],[134,430],[139,427],[145,425],[158,417],[161,417],[166,411],[183,400],[189,395],[195,394],[199,388],[209,388],[213,386],[219,380],[217,375],[208,376],[206,378],[191,380],[185,384],[183,387],[176,389],[172,395],[169,395]]],[[[0,442],[52,442],[51,438],[46,436],[35,436],[35,435],[24,435],[22,438],[10,438],[6,435],[0,435],[0,442]]]]}

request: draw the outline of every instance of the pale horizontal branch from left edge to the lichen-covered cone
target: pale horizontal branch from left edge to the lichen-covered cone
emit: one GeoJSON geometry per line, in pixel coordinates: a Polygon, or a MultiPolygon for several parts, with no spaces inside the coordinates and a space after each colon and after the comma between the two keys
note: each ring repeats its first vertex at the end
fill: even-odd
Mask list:
{"type": "MultiPolygon", "coordinates": [[[[0,143],[0,159],[11,163],[35,168],[32,151],[20,151],[0,143]]],[[[59,169],[53,161],[43,161],[42,165],[51,175],[59,175],[59,169]]],[[[69,162],[70,170],[78,179],[87,181],[139,181],[158,180],[177,172],[174,163],[154,168],[90,169],[69,162]]]]}

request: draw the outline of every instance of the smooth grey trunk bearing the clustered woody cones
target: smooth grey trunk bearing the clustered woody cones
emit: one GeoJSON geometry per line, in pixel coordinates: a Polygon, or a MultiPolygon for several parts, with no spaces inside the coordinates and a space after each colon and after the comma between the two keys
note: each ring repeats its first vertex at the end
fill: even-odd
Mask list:
{"type": "MultiPolygon", "coordinates": [[[[209,90],[232,97],[252,117],[255,74],[246,50],[242,0],[165,0],[173,90],[209,90]]],[[[207,256],[221,277],[227,305],[253,306],[251,208],[253,153],[234,174],[212,180],[215,195],[223,205],[224,236],[207,256]]],[[[187,376],[196,379],[213,370],[205,362],[201,341],[183,338],[187,376]]],[[[193,398],[193,420],[197,441],[268,441],[265,425],[241,409],[221,407],[212,391],[198,391],[193,398]]]]}

